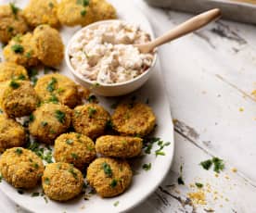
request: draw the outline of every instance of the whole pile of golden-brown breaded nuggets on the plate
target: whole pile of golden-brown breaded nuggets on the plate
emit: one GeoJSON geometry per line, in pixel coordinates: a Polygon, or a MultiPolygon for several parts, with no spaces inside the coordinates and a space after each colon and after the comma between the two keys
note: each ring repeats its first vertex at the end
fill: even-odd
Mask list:
{"type": "Polygon", "coordinates": [[[8,42],[6,61],[0,63],[0,171],[14,187],[32,189],[41,183],[50,199],[67,201],[83,191],[85,173],[102,197],[122,194],[131,184],[126,159],[141,154],[142,138],[156,122],[152,109],[124,100],[110,115],[96,103],[83,104],[89,91],[81,95],[68,77],[46,74],[32,86],[27,71],[39,63],[61,63],[64,45],[55,29],[60,24],[114,18],[114,7],[104,0],[31,0],[23,11],[13,4],[0,6],[0,40],[8,42]],[[17,121],[23,117],[29,117],[28,126],[17,121]],[[45,166],[24,148],[28,136],[54,145],[55,163],[45,166]]]}

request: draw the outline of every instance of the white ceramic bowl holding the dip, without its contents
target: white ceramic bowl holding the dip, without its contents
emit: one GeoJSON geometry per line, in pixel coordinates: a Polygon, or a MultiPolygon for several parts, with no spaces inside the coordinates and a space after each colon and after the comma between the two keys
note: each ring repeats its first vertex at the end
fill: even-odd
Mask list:
{"type": "MultiPolygon", "coordinates": [[[[83,31],[84,29],[93,29],[96,26],[100,24],[106,24],[110,23],[113,21],[121,21],[120,19],[111,19],[111,20],[103,20],[103,21],[97,21],[93,24],[90,24],[80,31],[77,31],[70,39],[69,44],[67,45],[66,52],[65,52],[65,59],[67,62],[67,65],[73,74],[74,78],[76,81],[81,83],[83,86],[90,88],[93,93],[103,95],[103,96],[121,96],[124,94],[130,94],[140,88],[149,78],[149,76],[152,73],[152,68],[156,64],[156,59],[157,59],[157,52],[154,54],[154,59],[152,62],[152,65],[149,69],[147,69],[143,74],[137,76],[133,80],[130,81],[125,81],[125,82],[117,82],[117,83],[112,83],[112,84],[107,84],[107,83],[100,83],[96,84],[94,81],[86,80],[81,73],[78,71],[74,70],[71,63],[70,63],[70,55],[69,55],[69,50],[70,50],[70,44],[79,36],[80,32],[83,31]]],[[[151,39],[154,38],[154,35],[152,33],[149,33],[151,39]]]]}

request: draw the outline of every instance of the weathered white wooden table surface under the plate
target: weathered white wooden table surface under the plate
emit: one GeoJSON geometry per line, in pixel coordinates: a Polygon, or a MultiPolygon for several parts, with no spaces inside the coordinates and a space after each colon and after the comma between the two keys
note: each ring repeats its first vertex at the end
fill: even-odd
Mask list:
{"type": "MultiPolygon", "coordinates": [[[[190,17],[134,3],[157,35],[190,17]]],[[[256,212],[255,38],[255,26],[219,20],[160,48],[175,157],[159,189],[132,212],[256,212]],[[220,174],[198,165],[213,156],[224,159],[220,174]],[[177,183],[181,165],[185,185],[177,183]]],[[[24,212],[2,193],[0,200],[0,212],[24,212]]]]}

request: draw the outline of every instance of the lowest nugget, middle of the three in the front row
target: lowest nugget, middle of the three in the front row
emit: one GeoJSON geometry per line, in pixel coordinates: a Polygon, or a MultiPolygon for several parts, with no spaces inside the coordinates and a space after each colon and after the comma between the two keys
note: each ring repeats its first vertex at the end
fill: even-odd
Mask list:
{"type": "Polygon", "coordinates": [[[67,201],[81,193],[83,174],[68,163],[52,163],[42,177],[45,194],[53,200],[67,201]]]}

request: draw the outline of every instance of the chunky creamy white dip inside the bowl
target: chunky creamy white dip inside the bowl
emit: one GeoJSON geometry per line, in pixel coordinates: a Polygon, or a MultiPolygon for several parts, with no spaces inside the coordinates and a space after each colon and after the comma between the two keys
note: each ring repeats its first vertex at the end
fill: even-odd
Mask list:
{"type": "Polygon", "coordinates": [[[147,32],[124,21],[100,24],[80,31],[70,44],[70,63],[90,81],[129,81],[151,66],[154,55],[142,54],[133,45],[149,41],[147,32]]]}

